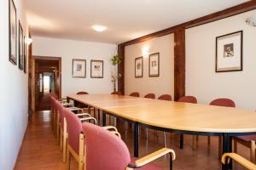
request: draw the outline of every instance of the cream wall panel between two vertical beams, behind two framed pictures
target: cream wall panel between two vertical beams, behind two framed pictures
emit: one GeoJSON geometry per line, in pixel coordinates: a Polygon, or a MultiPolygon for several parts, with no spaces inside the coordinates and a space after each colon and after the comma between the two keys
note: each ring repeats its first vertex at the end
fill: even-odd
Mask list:
{"type": "Polygon", "coordinates": [[[154,93],[174,94],[174,35],[157,37],[125,47],[125,94],[139,92],[141,96],[154,93]],[[148,54],[143,50],[148,48],[148,54]],[[148,77],[148,55],[160,53],[160,77],[148,77]],[[135,78],[135,59],[143,56],[143,77],[135,78]]]}

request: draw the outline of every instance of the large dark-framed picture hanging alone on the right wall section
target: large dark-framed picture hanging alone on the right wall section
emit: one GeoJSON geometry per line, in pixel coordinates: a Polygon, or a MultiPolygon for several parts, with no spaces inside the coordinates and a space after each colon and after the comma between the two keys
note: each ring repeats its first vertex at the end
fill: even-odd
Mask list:
{"type": "Polygon", "coordinates": [[[215,71],[242,71],[242,31],[216,37],[215,71]]]}

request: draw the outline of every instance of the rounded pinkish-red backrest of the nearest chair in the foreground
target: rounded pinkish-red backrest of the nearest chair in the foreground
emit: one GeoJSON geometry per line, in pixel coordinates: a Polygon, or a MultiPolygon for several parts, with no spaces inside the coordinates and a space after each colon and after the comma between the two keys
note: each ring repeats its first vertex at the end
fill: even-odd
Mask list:
{"type": "Polygon", "coordinates": [[[108,130],[83,123],[86,145],[86,169],[120,170],[131,163],[130,152],[123,142],[108,130]]]}

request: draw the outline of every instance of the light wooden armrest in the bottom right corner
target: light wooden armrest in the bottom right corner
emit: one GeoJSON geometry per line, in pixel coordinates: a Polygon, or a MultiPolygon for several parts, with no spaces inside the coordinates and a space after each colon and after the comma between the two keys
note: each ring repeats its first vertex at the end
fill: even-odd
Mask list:
{"type": "Polygon", "coordinates": [[[237,163],[241,164],[241,166],[246,167],[247,169],[256,170],[255,164],[253,164],[251,161],[248,161],[244,157],[239,156],[236,153],[225,153],[222,156],[221,161],[223,164],[225,164],[226,162],[230,161],[230,158],[236,161],[237,163]]]}

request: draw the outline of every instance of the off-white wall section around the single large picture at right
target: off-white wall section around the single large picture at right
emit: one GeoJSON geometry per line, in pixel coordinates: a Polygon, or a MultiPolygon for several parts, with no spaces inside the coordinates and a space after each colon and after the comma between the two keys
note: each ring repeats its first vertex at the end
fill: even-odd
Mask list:
{"type": "Polygon", "coordinates": [[[224,97],[234,99],[237,107],[256,110],[256,28],[247,17],[256,10],[186,30],[186,94],[200,103],[224,97]],[[243,71],[215,72],[215,38],[243,31],[243,71]]]}

